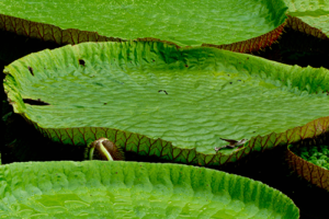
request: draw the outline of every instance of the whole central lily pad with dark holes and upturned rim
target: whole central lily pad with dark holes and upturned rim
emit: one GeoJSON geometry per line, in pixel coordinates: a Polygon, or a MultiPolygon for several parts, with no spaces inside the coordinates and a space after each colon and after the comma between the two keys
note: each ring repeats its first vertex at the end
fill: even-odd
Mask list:
{"type": "Polygon", "coordinates": [[[328,72],[216,48],[84,43],[14,61],[4,90],[55,141],[106,137],[126,151],[218,165],[317,135],[310,122],[329,115],[328,72]],[[220,138],[250,141],[216,154],[220,138]]]}

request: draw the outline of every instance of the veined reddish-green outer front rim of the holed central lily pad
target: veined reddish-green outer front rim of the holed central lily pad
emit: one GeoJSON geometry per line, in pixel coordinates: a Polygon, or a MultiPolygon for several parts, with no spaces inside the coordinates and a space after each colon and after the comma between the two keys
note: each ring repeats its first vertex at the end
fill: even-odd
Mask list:
{"type": "MultiPolygon", "coordinates": [[[[291,143],[296,143],[304,139],[317,138],[329,131],[329,116],[327,116],[309,122],[304,126],[291,128],[281,134],[272,132],[265,136],[252,137],[242,148],[231,154],[223,154],[220,151],[216,154],[204,154],[197,152],[195,149],[182,149],[172,146],[170,141],[160,138],[152,139],[140,134],[105,127],[41,128],[37,123],[29,120],[24,114],[21,115],[45,137],[64,145],[87,147],[90,142],[105,137],[115,145],[121,146],[125,151],[136,152],[147,157],[155,155],[171,162],[195,165],[223,165],[236,162],[253,151],[263,152],[264,150],[275,147],[287,147],[291,143]]],[[[320,175],[320,178],[324,176],[320,175]]],[[[326,178],[328,177],[326,176],[326,178]]],[[[320,184],[325,185],[324,183],[320,184]]],[[[329,185],[326,184],[326,186],[329,185]]]]}

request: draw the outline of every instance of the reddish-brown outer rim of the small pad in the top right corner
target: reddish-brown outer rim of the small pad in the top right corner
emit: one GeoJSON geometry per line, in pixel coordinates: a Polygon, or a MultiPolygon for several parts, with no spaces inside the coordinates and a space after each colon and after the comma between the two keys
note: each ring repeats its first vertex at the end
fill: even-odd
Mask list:
{"type": "Polygon", "coordinates": [[[308,34],[308,35],[313,35],[317,38],[321,38],[321,39],[329,39],[328,36],[320,30],[313,27],[310,25],[308,25],[307,23],[303,22],[300,19],[296,18],[296,16],[291,16],[287,15],[287,20],[286,20],[286,26],[291,27],[295,31],[308,34]]]}

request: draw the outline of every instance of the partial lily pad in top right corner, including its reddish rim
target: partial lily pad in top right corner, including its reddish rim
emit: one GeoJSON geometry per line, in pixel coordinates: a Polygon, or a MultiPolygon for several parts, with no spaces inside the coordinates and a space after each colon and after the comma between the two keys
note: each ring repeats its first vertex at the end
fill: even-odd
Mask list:
{"type": "Polygon", "coordinates": [[[329,36],[329,1],[284,0],[288,7],[288,25],[319,38],[329,36]]]}

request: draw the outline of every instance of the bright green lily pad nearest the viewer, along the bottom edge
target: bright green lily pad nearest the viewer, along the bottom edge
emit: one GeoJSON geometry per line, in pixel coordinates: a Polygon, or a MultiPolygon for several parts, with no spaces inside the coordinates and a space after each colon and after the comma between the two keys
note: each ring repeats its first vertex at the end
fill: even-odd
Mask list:
{"type": "Polygon", "coordinates": [[[209,169],[141,162],[0,166],[0,215],[54,218],[282,218],[298,208],[260,182],[209,169]]]}

